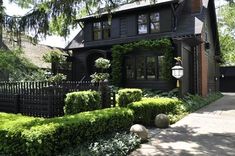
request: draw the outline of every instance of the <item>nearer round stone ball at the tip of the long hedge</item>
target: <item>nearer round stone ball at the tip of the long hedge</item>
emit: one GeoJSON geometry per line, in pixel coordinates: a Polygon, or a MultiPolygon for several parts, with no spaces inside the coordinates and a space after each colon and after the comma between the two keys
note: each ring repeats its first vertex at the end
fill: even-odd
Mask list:
{"type": "Polygon", "coordinates": [[[148,130],[140,124],[135,124],[131,126],[130,132],[137,134],[142,141],[148,140],[148,130]]]}

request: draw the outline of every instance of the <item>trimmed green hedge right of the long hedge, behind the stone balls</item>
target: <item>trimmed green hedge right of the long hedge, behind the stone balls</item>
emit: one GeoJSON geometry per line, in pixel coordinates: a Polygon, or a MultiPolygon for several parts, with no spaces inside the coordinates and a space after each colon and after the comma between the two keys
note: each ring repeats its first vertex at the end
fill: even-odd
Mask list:
{"type": "Polygon", "coordinates": [[[153,125],[156,115],[172,114],[180,104],[182,101],[173,98],[143,98],[141,101],[129,104],[128,108],[134,111],[135,123],[153,125]]]}

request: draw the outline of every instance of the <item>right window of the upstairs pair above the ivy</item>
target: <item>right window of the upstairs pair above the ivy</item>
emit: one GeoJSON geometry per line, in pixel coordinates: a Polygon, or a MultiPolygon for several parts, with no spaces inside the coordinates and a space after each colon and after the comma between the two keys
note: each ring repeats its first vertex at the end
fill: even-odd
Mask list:
{"type": "Polygon", "coordinates": [[[160,14],[159,12],[150,14],[150,28],[151,33],[156,33],[160,31],[160,14]]]}

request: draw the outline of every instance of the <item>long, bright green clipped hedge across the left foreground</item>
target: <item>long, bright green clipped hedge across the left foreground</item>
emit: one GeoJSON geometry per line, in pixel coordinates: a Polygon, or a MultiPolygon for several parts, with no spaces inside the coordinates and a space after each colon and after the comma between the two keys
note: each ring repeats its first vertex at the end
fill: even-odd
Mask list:
{"type": "Polygon", "coordinates": [[[102,134],[127,130],[134,119],[133,112],[127,108],[108,108],[52,119],[5,113],[0,113],[0,117],[0,154],[29,156],[58,155],[67,147],[78,146],[102,134]]]}

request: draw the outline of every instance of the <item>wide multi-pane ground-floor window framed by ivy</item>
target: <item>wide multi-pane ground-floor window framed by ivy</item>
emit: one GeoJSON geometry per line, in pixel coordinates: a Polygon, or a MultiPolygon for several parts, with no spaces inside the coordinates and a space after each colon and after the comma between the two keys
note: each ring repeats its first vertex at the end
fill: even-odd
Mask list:
{"type": "Polygon", "coordinates": [[[163,80],[164,56],[127,57],[127,80],[163,80]]]}

